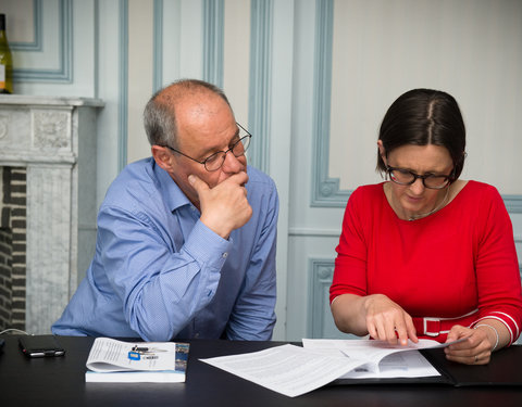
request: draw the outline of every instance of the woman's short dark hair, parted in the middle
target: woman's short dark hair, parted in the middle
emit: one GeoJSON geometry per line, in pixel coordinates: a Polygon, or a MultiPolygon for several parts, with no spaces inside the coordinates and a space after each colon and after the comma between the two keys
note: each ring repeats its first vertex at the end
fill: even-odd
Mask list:
{"type": "MultiPolygon", "coordinates": [[[[378,139],[386,154],[406,144],[445,147],[453,161],[452,180],[462,173],[465,126],[457,101],[446,92],[413,89],[401,94],[386,112],[378,139]]],[[[386,171],[381,154],[377,170],[386,171]]]]}

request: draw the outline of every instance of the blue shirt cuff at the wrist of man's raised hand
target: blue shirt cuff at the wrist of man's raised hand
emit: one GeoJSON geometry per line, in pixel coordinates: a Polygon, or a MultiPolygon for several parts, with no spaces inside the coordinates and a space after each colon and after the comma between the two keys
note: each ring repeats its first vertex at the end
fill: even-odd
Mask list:
{"type": "Polygon", "coordinates": [[[225,240],[198,220],[185,242],[185,251],[197,262],[221,269],[233,245],[232,239],[225,240]]]}

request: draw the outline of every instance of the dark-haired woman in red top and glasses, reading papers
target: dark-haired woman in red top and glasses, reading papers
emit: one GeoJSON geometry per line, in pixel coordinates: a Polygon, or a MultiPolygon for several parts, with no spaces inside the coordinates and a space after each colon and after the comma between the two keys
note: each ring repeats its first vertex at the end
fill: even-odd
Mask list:
{"type": "Polygon", "coordinates": [[[467,338],[446,357],[487,364],[520,334],[521,283],[502,199],[459,179],[465,128],[456,100],[402,94],[377,145],[390,180],[358,188],[346,207],[330,290],[337,328],[400,344],[467,338]]]}

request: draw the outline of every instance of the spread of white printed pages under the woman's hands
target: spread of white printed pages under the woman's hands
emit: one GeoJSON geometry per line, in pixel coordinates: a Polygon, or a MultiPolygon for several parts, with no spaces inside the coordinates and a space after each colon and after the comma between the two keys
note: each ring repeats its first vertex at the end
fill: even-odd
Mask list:
{"type": "Polygon", "coordinates": [[[440,376],[419,349],[449,345],[431,340],[420,340],[418,344],[410,342],[407,346],[370,340],[304,339],[302,343],[304,347],[287,344],[200,360],[295,397],[340,378],[440,376]]]}

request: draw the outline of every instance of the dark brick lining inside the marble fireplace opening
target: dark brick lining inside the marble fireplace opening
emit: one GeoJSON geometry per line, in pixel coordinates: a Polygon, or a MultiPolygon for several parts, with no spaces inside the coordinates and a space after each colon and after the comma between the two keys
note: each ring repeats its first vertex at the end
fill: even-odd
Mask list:
{"type": "Polygon", "coordinates": [[[2,247],[10,241],[10,249],[5,249],[10,252],[5,253],[5,269],[2,268],[0,275],[0,329],[25,330],[27,171],[25,167],[0,167],[0,173],[2,247]]]}

